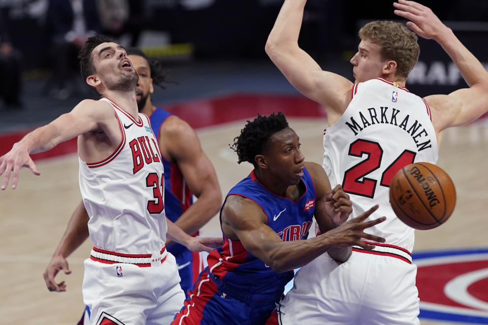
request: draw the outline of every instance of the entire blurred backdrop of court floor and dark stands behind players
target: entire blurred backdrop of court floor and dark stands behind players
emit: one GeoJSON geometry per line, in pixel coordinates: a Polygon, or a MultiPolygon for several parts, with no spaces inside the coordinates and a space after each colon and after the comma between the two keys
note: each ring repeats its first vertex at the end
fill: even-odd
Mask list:
{"type": "MultiPolygon", "coordinates": [[[[228,144],[257,112],[284,111],[303,139],[307,159],[321,164],[324,111],[303,98],[264,52],[282,3],[0,0],[0,155],[34,127],[69,112],[82,99],[95,99],[81,80],[76,56],[86,38],[98,32],[125,47],[140,47],[169,70],[166,89],[155,89],[151,98],[197,129],[224,194],[251,170],[251,165],[235,164],[228,144]]],[[[431,7],[488,67],[488,1],[421,3],[431,7]]],[[[353,80],[349,60],[357,51],[358,29],[371,20],[396,18],[391,0],[309,0],[299,44],[324,70],[353,80]]],[[[436,42],[420,39],[419,44],[419,62],[406,85],[411,92],[447,94],[467,86],[436,42]]],[[[448,130],[444,136],[439,166],[453,178],[458,204],[445,225],[416,235],[419,254],[414,258],[419,265],[419,295],[425,302],[422,324],[488,323],[488,227],[484,220],[488,191],[483,174],[487,145],[485,118],[448,130]],[[472,168],[464,168],[466,160],[472,168]],[[432,262],[436,256],[444,264],[432,262]],[[463,268],[451,271],[448,266],[461,260],[475,261],[470,271],[484,273],[463,282],[469,288],[468,284],[456,287],[460,297],[469,296],[460,302],[451,299],[458,291],[446,298],[443,288],[449,279],[467,272],[463,268]]],[[[41,178],[23,170],[19,188],[0,193],[0,277],[5,279],[0,282],[0,324],[71,325],[83,310],[80,286],[88,241],[69,258],[73,274],[67,279],[67,293],[48,293],[42,273],[80,200],[76,143],[35,159],[41,178]]],[[[218,218],[214,218],[203,233],[220,236],[219,232],[218,218]]]]}

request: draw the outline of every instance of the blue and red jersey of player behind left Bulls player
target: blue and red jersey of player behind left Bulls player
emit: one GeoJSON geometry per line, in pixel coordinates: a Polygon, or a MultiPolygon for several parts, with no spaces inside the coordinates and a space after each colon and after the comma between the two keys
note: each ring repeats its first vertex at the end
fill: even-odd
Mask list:
{"type": "MultiPolygon", "coordinates": [[[[168,116],[171,116],[171,113],[158,107],[149,117],[151,128],[153,128],[154,135],[158,140],[161,124],[168,116]]],[[[164,166],[164,210],[168,219],[175,222],[193,203],[193,193],[186,185],[178,166],[164,157],[162,158],[164,166]]],[[[177,243],[167,246],[167,249],[175,256],[188,250],[185,246],[177,243]]]]}

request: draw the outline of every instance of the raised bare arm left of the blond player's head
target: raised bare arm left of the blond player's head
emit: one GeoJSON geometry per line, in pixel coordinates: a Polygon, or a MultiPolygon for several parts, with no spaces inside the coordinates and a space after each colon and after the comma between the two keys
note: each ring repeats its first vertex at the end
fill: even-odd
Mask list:
{"type": "Polygon", "coordinates": [[[348,79],[322,71],[298,46],[298,35],[307,0],[285,0],[269,33],[265,50],[288,81],[302,94],[325,107],[327,115],[342,114],[353,86],[348,79]]]}

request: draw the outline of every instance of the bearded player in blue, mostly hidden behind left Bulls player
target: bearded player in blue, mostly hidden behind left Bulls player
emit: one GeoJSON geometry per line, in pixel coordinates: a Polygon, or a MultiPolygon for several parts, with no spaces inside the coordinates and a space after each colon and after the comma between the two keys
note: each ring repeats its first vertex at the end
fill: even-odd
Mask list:
{"type": "MultiPolygon", "coordinates": [[[[149,59],[138,48],[127,50],[129,59],[139,75],[136,101],[140,113],[149,116],[151,128],[158,139],[164,165],[164,209],[166,217],[187,234],[198,235],[199,229],[219,211],[222,193],[215,169],[202,151],[200,141],[192,127],[151,102],[154,84],[165,88],[167,70],[157,59],[149,59]],[[198,200],[193,203],[193,194],[198,200]]],[[[44,279],[51,291],[65,291],[65,282],[56,283],[59,270],[69,274],[66,257],[88,237],[88,214],[83,203],[76,208],[68,229],[60,241],[44,279]]],[[[166,241],[166,249],[175,256],[181,278],[181,288],[187,293],[203,270],[202,253],[194,253],[178,243],[166,241]]],[[[181,301],[182,303],[182,301],[181,301]]],[[[86,307],[79,324],[89,323],[86,307]]]]}

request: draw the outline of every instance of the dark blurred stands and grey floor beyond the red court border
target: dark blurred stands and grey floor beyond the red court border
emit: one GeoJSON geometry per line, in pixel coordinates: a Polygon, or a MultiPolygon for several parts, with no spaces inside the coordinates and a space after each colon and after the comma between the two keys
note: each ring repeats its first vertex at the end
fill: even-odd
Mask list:
{"type": "MultiPolygon", "coordinates": [[[[488,2],[424,1],[484,63],[488,2]]],[[[294,90],[272,66],[264,44],[282,0],[0,0],[0,132],[43,124],[93,96],[76,54],[94,32],[141,47],[170,69],[158,104],[236,91],[294,90]]],[[[309,0],[300,46],[324,70],[352,78],[358,27],[394,20],[392,1],[309,0]]],[[[420,40],[407,86],[448,93],[464,81],[442,49],[420,40]]]]}

